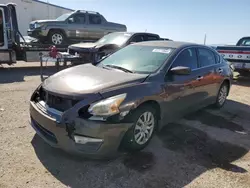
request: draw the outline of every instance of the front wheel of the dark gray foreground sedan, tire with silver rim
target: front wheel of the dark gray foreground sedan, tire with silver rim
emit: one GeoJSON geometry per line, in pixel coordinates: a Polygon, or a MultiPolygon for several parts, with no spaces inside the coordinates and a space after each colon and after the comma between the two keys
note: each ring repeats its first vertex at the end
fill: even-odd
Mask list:
{"type": "Polygon", "coordinates": [[[143,105],[132,112],[129,118],[131,118],[134,123],[124,135],[121,145],[122,148],[128,151],[140,151],[149,144],[156,130],[158,122],[156,110],[149,105],[143,105]],[[140,124],[140,122],[144,121],[144,115],[149,115],[147,116],[149,121],[146,121],[148,124],[145,124],[145,127],[140,124]],[[139,124],[141,126],[139,126],[139,124]],[[141,128],[141,130],[139,130],[139,128],[141,128]],[[148,132],[148,134],[146,132],[148,132]],[[144,137],[139,140],[139,137],[141,137],[143,134],[144,137]],[[143,140],[143,138],[145,138],[145,140],[143,140]]]}

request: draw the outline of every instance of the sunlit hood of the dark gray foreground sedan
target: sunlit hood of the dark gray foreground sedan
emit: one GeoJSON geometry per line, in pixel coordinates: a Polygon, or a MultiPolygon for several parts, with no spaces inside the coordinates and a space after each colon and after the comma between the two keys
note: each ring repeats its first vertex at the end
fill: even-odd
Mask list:
{"type": "Polygon", "coordinates": [[[92,64],[84,64],[60,71],[47,78],[42,86],[45,90],[60,95],[74,96],[103,92],[124,84],[140,83],[147,74],[132,74],[107,70],[92,64]]]}

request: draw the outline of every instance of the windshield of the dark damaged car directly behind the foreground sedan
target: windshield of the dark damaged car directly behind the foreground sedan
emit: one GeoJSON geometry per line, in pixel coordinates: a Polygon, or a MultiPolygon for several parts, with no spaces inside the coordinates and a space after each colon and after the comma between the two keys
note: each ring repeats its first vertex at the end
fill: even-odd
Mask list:
{"type": "Polygon", "coordinates": [[[117,44],[118,46],[123,45],[131,37],[128,33],[110,33],[99,39],[96,43],[98,45],[103,44],[117,44]]]}

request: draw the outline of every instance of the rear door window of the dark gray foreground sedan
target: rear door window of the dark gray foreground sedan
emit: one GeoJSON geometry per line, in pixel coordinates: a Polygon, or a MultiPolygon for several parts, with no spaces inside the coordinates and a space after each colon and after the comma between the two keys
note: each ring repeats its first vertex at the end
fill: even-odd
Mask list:
{"type": "Polygon", "coordinates": [[[214,53],[211,50],[198,48],[198,57],[200,67],[206,67],[216,64],[214,53]]]}

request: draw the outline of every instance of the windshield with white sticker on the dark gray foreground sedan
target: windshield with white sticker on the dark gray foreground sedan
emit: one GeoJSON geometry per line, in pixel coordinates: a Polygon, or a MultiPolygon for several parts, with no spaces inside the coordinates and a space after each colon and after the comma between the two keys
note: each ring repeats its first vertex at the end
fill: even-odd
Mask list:
{"type": "Polygon", "coordinates": [[[152,73],[162,66],[172,51],[166,47],[129,45],[108,56],[97,66],[116,66],[130,72],[152,73]]]}

